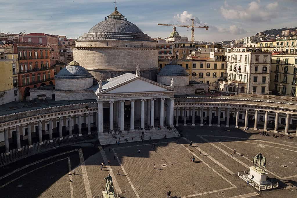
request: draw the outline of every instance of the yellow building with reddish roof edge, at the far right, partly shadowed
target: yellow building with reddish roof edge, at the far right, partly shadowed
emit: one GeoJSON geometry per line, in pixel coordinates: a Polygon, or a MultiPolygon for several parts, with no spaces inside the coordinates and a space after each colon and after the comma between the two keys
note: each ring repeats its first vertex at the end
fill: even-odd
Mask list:
{"type": "Polygon", "coordinates": [[[275,52],[271,58],[270,91],[296,97],[297,55],[275,52]]]}

